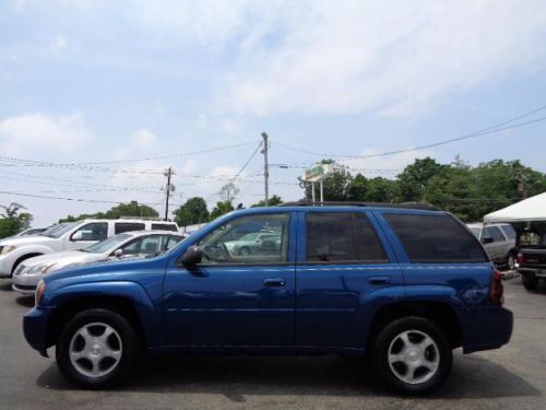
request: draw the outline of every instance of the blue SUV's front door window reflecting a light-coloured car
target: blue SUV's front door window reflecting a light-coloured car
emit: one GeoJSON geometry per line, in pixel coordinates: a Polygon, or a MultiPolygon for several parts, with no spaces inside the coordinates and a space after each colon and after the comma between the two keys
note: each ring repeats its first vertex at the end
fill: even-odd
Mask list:
{"type": "Polygon", "coordinates": [[[197,243],[202,263],[281,263],[288,260],[288,213],[241,216],[197,243]]]}

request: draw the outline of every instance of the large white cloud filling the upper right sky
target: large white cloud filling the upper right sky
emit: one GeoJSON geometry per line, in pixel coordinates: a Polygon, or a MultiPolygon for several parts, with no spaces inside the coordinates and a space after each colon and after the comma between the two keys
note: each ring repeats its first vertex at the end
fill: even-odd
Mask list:
{"type": "Polygon", "coordinates": [[[239,55],[226,75],[236,112],[427,110],[449,93],[546,68],[541,1],[316,1],[283,40],[239,55]]]}

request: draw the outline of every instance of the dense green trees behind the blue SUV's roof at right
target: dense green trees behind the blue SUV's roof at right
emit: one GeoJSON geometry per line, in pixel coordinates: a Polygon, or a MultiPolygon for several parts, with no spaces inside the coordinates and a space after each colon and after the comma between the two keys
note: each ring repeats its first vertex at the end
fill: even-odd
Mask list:
{"type": "MultiPolygon", "coordinates": [[[[427,202],[465,222],[480,221],[489,212],[546,190],[546,174],[518,160],[494,160],[473,167],[459,156],[451,164],[426,157],[415,160],[394,179],[352,175],[332,160],[322,163],[333,163],[335,169],[323,181],[324,200],[427,202]]],[[[310,200],[310,184],[300,181],[300,186],[310,200]]]]}

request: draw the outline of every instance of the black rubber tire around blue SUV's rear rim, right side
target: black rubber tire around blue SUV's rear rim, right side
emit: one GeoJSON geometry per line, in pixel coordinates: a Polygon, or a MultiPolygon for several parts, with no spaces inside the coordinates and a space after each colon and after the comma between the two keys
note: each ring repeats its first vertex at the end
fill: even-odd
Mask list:
{"type": "MultiPolygon", "coordinates": [[[[425,338],[420,339],[420,341],[425,341],[425,338]]],[[[388,324],[372,341],[371,350],[368,354],[369,363],[371,363],[375,372],[378,373],[387,386],[404,395],[423,395],[439,388],[446,382],[453,361],[451,348],[439,328],[432,321],[416,316],[400,318],[388,324]],[[403,355],[404,360],[406,362],[412,361],[412,364],[425,363],[423,359],[416,356],[419,353],[414,353],[415,350],[410,349],[410,351],[406,351],[407,356],[406,353],[402,353],[403,349],[396,352],[396,349],[399,349],[396,343],[403,344],[401,340],[402,335],[408,336],[410,340],[417,338],[416,340],[412,340],[412,343],[414,341],[419,342],[419,338],[423,335],[434,341],[435,344],[430,344],[423,352],[423,359],[426,358],[436,362],[434,372],[426,367],[426,365],[410,371],[410,367],[405,366],[402,361],[392,364],[389,363],[389,350],[391,350],[391,353],[394,352],[403,355]],[[414,378],[415,376],[413,383],[405,382],[399,376],[401,373],[404,373],[404,368],[407,377],[414,378]],[[419,378],[423,382],[419,382],[419,378]]]]}

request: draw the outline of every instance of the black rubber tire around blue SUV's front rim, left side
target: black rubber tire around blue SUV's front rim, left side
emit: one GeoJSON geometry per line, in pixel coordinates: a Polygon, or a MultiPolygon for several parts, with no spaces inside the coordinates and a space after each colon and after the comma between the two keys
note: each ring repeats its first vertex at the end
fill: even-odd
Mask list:
{"type": "Polygon", "coordinates": [[[57,341],[56,358],[59,370],[70,382],[81,387],[103,389],[116,386],[127,377],[129,371],[139,359],[141,343],[136,335],[138,332],[133,326],[116,312],[103,308],[80,312],[67,323],[57,341]],[[103,340],[103,344],[99,344],[97,343],[98,338],[94,335],[94,328],[99,331],[102,325],[105,326],[105,329],[108,327],[114,329],[115,333],[107,337],[106,342],[103,340]],[[74,352],[74,347],[76,347],[78,343],[83,343],[81,351],[84,352],[88,343],[83,340],[83,337],[78,336],[78,332],[83,328],[90,331],[92,337],[90,340],[98,344],[98,348],[93,344],[90,354],[100,354],[102,345],[106,344],[108,344],[108,348],[112,351],[116,351],[118,359],[99,359],[100,362],[97,367],[103,367],[104,371],[110,368],[111,362],[117,360],[117,363],[111,365],[111,370],[108,371],[108,373],[103,375],[97,374],[96,376],[83,374],[82,372],[85,372],[86,367],[90,367],[87,370],[90,373],[93,372],[94,368],[92,361],[88,360],[87,356],[79,359],[75,365],[72,363],[70,355],[71,349],[72,352],[74,352]]]}

